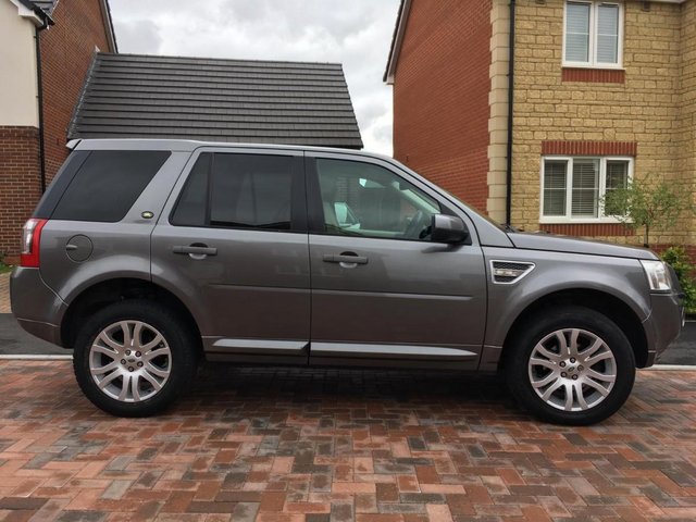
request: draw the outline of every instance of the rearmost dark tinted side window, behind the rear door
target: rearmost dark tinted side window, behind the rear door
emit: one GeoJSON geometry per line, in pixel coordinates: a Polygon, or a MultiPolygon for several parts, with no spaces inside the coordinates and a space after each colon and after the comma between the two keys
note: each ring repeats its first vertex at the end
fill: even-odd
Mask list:
{"type": "Polygon", "coordinates": [[[51,217],[103,223],[123,220],[170,154],[161,150],[90,152],[51,217]]]}

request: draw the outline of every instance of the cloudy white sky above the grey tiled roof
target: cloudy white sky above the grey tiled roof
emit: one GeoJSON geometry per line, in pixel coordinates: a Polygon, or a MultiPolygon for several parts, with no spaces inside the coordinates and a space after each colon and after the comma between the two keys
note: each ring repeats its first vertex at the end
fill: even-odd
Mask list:
{"type": "Polygon", "coordinates": [[[399,0],[110,0],[119,51],[343,63],[365,150],[391,156],[382,82],[399,0]]]}

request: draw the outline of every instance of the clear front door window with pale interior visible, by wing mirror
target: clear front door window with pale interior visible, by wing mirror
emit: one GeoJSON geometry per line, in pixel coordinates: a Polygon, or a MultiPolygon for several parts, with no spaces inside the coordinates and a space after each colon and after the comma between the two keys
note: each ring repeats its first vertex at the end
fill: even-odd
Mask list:
{"type": "Polygon", "coordinates": [[[316,160],[328,234],[428,240],[439,204],[394,172],[371,163],[316,160]]]}

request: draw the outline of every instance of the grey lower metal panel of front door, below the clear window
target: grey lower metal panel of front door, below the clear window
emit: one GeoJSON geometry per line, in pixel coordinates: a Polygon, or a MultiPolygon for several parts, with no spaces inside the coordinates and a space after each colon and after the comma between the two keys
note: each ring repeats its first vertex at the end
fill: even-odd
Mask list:
{"type": "Polygon", "coordinates": [[[310,257],[310,358],[316,341],[481,350],[486,289],[477,246],[312,235],[310,257]],[[344,251],[368,263],[323,261],[344,251]]]}

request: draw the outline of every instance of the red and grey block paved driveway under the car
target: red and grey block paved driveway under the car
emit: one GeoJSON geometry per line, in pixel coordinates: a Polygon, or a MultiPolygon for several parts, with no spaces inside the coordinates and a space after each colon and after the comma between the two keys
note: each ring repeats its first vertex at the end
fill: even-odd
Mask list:
{"type": "Polygon", "coordinates": [[[127,420],[70,362],[0,361],[0,520],[696,520],[696,372],[644,371],[592,427],[494,378],[206,368],[127,420]]]}

